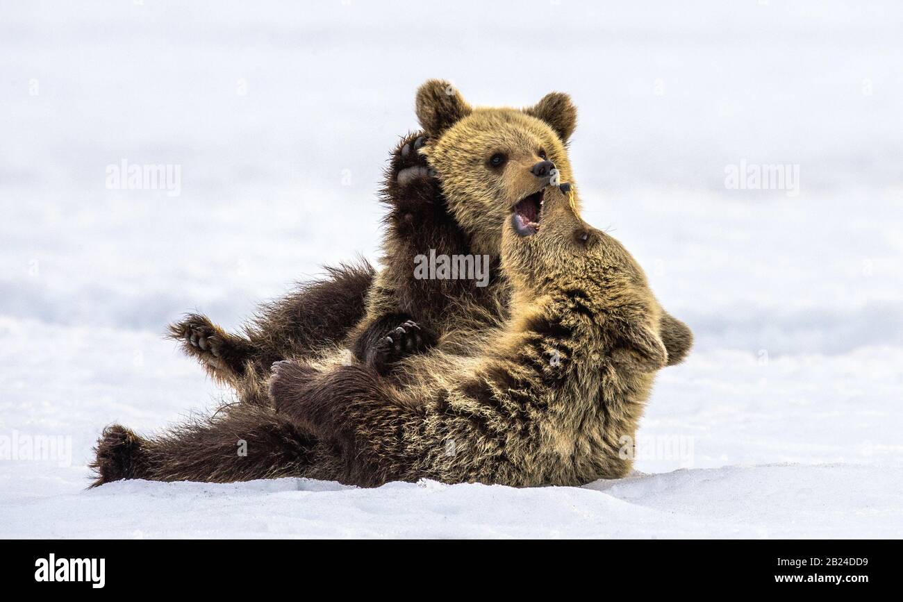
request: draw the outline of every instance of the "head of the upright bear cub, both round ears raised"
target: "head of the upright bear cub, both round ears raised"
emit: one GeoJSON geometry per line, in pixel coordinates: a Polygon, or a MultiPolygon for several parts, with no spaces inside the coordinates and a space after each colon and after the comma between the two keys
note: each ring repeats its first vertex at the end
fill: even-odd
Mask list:
{"type": "Polygon", "coordinates": [[[416,113],[428,137],[421,152],[475,251],[498,254],[512,212],[524,231],[539,227],[553,170],[573,182],[567,143],[577,109],[566,94],[553,92],[523,109],[470,107],[449,82],[431,79],[417,91],[416,113]]]}

